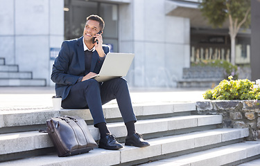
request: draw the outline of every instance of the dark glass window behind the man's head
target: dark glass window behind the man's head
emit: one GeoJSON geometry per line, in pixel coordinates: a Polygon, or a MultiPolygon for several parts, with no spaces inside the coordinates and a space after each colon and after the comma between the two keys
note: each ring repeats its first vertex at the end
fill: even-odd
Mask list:
{"type": "Polygon", "coordinates": [[[118,52],[118,6],[111,3],[64,0],[64,39],[75,39],[83,35],[86,18],[99,15],[105,21],[103,44],[118,52]]]}

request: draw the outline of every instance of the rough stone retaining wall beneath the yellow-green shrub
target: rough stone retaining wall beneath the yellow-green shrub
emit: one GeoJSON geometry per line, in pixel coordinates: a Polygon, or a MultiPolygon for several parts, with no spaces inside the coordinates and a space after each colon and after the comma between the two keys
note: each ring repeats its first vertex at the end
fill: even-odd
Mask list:
{"type": "Polygon", "coordinates": [[[222,115],[224,128],[248,128],[247,140],[260,140],[260,101],[209,100],[196,102],[199,115],[222,115]]]}

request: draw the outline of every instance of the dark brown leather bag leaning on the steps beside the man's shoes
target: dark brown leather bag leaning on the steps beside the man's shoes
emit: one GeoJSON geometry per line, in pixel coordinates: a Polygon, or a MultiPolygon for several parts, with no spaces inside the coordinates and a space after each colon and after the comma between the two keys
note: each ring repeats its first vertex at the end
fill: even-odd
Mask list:
{"type": "Polygon", "coordinates": [[[86,153],[97,144],[85,120],[63,116],[47,120],[47,131],[59,157],[86,153]]]}

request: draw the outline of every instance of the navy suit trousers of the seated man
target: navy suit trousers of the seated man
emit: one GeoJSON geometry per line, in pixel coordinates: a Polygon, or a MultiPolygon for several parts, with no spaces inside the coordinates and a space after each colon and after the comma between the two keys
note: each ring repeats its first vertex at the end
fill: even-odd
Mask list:
{"type": "Polygon", "coordinates": [[[64,109],[89,109],[94,126],[105,122],[102,105],[116,99],[123,121],[137,121],[132,109],[128,84],[122,77],[98,83],[94,79],[77,82],[71,87],[67,98],[62,100],[64,109]]]}

